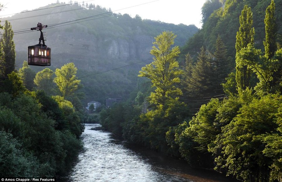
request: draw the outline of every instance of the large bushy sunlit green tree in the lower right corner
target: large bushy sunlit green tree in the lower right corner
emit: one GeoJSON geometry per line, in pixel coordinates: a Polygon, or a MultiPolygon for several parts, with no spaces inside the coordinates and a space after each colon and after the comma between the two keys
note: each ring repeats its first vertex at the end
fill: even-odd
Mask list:
{"type": "Polygon", "coordinates": [[[222,149],[215,159],[216,169],[224,169],[228,175],[244,181],[268,181],[269,167],[273,161],[264,155],[268,152],[265,150],[265,143],[268,143],[265,135],[276,133],[277,124],[274,121],[278,119],[281,98],[267,95],[245,103],[232,122],[222,128],[223,134],[216,141],[218,148],[222,149]]]}

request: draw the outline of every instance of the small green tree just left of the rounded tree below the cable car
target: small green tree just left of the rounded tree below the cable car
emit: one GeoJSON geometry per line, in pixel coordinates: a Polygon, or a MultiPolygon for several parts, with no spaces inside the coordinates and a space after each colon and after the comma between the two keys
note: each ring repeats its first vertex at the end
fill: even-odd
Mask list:
{"type": "Polygon", "coordinates": [[[27,61],[24,61],[23,67],[18,70],[18,74],[21,77],[24,86],[31,91],[34,87],[33,80],[35,77],[35,72],[29,67],[27,61]]]}

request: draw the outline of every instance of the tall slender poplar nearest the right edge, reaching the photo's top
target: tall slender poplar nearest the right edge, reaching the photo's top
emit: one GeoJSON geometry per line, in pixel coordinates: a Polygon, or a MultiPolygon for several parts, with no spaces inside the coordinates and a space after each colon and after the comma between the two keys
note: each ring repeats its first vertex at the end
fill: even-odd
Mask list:
{"type": "Polygon", "coordinates": [[[265,24],[265,41],[264,49],[265,56],[267,59],[271,59],[275,51],[277,50],[276,38],[277,38],[277,23],[274,16],[275,13],[275,3],[271,0],[270,5],[266,8],[266,14],[264,18],[265,24]]]}

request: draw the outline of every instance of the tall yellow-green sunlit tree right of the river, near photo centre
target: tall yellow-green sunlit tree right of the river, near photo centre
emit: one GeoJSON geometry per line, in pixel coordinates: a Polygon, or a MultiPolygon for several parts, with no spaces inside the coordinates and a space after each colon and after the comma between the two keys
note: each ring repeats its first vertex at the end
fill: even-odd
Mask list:
{"type": "Polygon", "coordinates": [[[147,77],[152,81],[152,87],[156,89],[151,92],[149,101],[151,104],[163,106],[167,100],[181,95],[182,91],[175,86],[180,82],[179,76],[182,71],[179,69],[179,64],[176,57],[180,54],[178,46],[171,46],[174,44],[176,35],[172,32],[163,32],[155,37],[155,42],[150,54],[155,56],[154,61],[149,65],[141,68],[139,71],[140,77],[147,77]]]}

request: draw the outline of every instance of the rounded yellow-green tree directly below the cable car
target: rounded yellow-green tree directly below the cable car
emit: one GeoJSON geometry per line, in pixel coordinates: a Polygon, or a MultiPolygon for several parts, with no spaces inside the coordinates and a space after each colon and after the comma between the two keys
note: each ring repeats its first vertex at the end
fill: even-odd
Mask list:
{"type": "Polygon", "coordinates": [[[36,73],[34,84],[37,86],[37,89],[43,90],[46,94],[51,95],[54,88],[53,75],[54,71],[49,68],[45,68],[36,73]]]}

